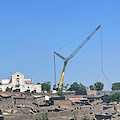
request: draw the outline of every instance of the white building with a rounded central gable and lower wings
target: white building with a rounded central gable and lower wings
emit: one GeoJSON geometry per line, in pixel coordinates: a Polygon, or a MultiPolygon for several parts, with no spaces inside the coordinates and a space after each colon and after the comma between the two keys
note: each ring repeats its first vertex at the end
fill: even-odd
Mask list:
{"type": "Polygon", "coordinates": [[[11,76],[11,79],[2,79],[2,85],[0,85],[0,91],[6,91],[6,88],[12,88],[12,91],[17,90],[20,92],[36,91],[41,92],[41,85],[35,85],[32,79],[24,79],[24,75],[20,72],[16,72],[11,76]]]}

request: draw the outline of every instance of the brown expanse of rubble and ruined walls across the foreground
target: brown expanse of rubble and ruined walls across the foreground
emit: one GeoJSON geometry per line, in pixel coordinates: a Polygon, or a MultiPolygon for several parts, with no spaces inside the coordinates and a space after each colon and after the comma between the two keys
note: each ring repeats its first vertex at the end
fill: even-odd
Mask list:
{"type": "MultiPolygon", "coordinates": [[[[48,113],[49,120],[71,120],[77,116],[78,120],[86,116],[91,119],[120,119],[120,104],[105,103],[99,96],[65,96],[62,98],[50,97],[47,102],[53,104],[46,105],[45,98],[42,96],[25,96],[25,99],[15,99],[21,95],[12,95],[11,98],[0,101],[0,115],[5,120],[39,120],[41,115],[48,113]],[[52,98],[52,99],[51,99],[52,98]],[[16,101],[15,101],[16,100],[16,101]]],[[[103,96],[102,96],[103,97],[103,96]]]]}

